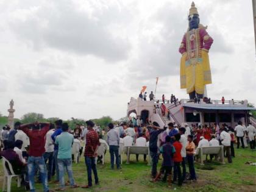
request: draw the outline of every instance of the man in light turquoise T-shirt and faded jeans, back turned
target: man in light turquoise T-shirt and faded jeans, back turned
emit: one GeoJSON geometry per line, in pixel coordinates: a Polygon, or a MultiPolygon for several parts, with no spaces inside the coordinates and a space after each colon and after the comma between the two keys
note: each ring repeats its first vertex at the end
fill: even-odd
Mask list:
{"type": "Polygon", "coordinates": [[[68,123],[62,124],[62,133],[58,135],[55,139],[55,144],[58,144],[58,165],[59,165],[59,179],[60,188],[57,191],[65,191],[65,180],[64,180],[64,170],[68,172],[68,180],[71,188],[79,187],[74,183],[73,170],[72,170],[72,145],[74,142],[74,137],[68,133],[68,123]]]}

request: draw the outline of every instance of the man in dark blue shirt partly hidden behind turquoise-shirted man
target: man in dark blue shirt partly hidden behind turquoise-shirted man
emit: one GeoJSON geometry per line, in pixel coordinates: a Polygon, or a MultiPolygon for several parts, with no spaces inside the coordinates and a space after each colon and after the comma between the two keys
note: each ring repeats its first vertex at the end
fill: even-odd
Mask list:
{"type": "MultiPolygon", "coordinates": [[[[60,135],[60,133],[62,133],[62,119],[59,119],[57,121],[55,121],[55,125],[56,125],[56,130],[54,133],[52,133],[52,141],[55,142],[55,138],[60,135]]],[[[58,151],[59,151],[59,147],[58,144],[54,144],[54,164],[55,164],[55,173],[56,173],[56,182],[59,182],[59,166],[58,166],[58,151]]],[[[52,172],[54,172],[54,170],[52,170],[52,172]]]]}

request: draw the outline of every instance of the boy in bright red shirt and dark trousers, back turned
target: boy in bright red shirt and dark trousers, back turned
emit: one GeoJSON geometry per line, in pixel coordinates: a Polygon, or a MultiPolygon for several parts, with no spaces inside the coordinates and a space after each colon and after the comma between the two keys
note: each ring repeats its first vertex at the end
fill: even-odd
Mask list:
{"type": "Polygon", "coordinates": [[[174,161],[174,176],[173,176],[173,181],[175,182],[177,179],[177,174],[178,174],[178,185],[182,185],[182,174],[180,170],[180,162],[182,162],[182,144],[180,143],[180,134],[177,133],[174,135],[175,137],[175,142],[172,144],[175,148],[175,154],[173,155],[173,161],[174,161]]]}

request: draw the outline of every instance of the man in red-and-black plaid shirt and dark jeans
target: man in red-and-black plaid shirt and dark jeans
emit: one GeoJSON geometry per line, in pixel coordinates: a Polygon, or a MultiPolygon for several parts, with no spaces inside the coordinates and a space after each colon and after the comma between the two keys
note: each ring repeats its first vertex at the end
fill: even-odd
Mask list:
{"type": "Polygon", "coordinates": [[[91,188],[93,186],[91,179],[91,169],[93,169],[95,185],[99,184],[98,173],[95,164],[95,157],[97,157],[97,150],[99,148],[99,136],[98,133],[93,130],[93,121],[87,121],[86,144],[85,144],[85,164],[87,166],[88,185],[82,186],[82,188],[91,188]]]}

